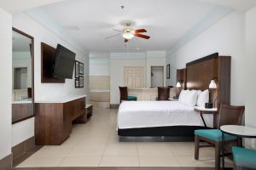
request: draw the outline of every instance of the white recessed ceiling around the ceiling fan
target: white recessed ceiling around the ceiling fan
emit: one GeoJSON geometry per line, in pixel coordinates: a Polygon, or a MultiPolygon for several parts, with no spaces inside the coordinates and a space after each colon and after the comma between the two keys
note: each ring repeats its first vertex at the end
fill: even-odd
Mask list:
{"type": "Polygon", "coordinates": [[[54,3],[40,9],[67,33],[91,51],[124,52],[165,50],[170,48],[215,5],[196,0],[72,0],[54,3]],[[125,5],[125,9],[120,6],[125,5]],[[134,28],[148,30],[150,40],[133,38],[125,47],[123,37],[106,40],[119,32],[125,20],[134,28]],[[70,29],[71,28],[71,29],[70,29]],[[78,30],[79,28],[79,30],[78,30]]]}

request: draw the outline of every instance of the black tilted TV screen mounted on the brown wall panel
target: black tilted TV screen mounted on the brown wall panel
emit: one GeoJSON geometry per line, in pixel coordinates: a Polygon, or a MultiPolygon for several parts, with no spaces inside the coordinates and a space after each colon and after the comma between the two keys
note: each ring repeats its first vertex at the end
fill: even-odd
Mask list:
{"type": "Polygon", "coordinates": [[[58,44],[55,52],[54,76],[72,79],[75,57],[76,54],[58,44]]]}

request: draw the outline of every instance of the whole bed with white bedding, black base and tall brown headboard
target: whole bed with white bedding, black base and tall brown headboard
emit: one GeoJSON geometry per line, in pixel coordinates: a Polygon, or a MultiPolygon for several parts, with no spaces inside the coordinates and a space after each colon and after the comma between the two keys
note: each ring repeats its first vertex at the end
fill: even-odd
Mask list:
{"type": "MultiPolygon", "coordinates": [[[[212,78],[218,89],[211,90],[209,100],[230,104],[230,56],[218,53],[186,64],[184,88],[204,90],[212,78]]],[[[207,127],[194,107],[179,101],[125,101],[119,106],[117,130],[119,137],[172,137],[193,139],[195,129],[216,125],[217,116],[204,115],[207,127]]]]}

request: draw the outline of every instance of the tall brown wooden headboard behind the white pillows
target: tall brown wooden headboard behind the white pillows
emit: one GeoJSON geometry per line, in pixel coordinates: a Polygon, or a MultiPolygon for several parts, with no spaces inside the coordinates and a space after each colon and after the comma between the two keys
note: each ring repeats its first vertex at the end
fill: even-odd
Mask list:
{"type": "Polygon", "coordinates": [[[208,89],[212,78],[218,84],[218,89],[211,89],[210,101],[218,96],[216,104],[230,104],[230,69],[231,57],[219,56],[218,53],[196,59],[186,65],[187,89],[208,89]]]}

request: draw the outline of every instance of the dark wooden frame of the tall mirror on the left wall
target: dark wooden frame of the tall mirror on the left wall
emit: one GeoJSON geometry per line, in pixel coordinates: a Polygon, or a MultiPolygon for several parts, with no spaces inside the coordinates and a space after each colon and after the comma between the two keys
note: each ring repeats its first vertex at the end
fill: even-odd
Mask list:
{"type": "Polygon", "coordinates": [[[12,111],[12,124],[15,124],[17,122],[22,122],[22,121],[25,121],[26,119],[29,119],[29,118],[32,118],[35,116],[35,89],[34,89],[34,37],[26,34],[24,31],[20,31],[18,29],[16,29],[15,27],[12,28],[12,31],[15,31],[19,34],[21,34],[22,36],[25,36],[25,37],[28,37],[31,39],[32,43],[31,43],[31,62],[32,62],[32,116],[24,116],[24,117],[21,117],[20,119],[18,120],[15,120],[14,121],[14,116],[13,116],[13,111],[12,111]]]}

